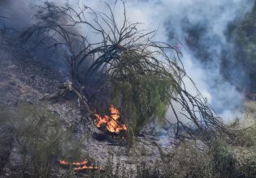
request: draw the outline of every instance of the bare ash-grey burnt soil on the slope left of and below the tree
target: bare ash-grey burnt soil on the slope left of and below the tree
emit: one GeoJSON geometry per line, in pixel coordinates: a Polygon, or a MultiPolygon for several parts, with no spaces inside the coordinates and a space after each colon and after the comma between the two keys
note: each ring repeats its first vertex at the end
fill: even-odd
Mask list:
{"type": "MultiPolygon", "coordinates": [[[[43,64],[44,62],[40,62],[31,53],[17,48],[17,45],[10,44],[7,40],[1,40],[0,43],[0,104],[10,108],[15,108],[18,103],[41,104],[42,98],[57,93],[59,87],[63,86],[67,76],[63,76],[62,71],[43,64]]],[[[92,118],[83,117],[76,95],[44,103],[47,109],[59,115],[64,128],[72,127],[73,142],[82,142],[80,146],[85,155],[98,163],[99,167],[108,164],[110,155],[113,167],[119,163],[124,167],[123,170],[136,169],[141,162],[153,165],[160,159],[158,146],[151,144],[159,142],[157,137],[143,134],[137,138],[141,142],[134,142],[133,148],[115,142],[115,138],[104,135],[93,125],[92,118]]],[[[2,134],[2,130],[7,130],[7,125],[0,126],[0,138],[8,138],[2,141],[7,143],[0,142],[0,156],[5,155],[0,162],[1,177],[19,177],[19,170],[22,167],[20,146],[15,140],[13,128],[3,132],[9,133],[7,137],[2,134]]],[[[50,164],[50,177],[65,175],[66,170],[60,167],[56,159],[50,164]]]]}

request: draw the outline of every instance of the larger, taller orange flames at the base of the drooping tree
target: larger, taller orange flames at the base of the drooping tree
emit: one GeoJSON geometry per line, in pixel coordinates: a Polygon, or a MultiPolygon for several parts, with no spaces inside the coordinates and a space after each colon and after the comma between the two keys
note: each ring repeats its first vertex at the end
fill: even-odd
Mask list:
{"type": "Polygon", "coordinates": [[[94,114],[94,117],[96,117],[97,122],[95,123],[95,126],[100,128],[101,125],[106,124],[106,129],[110,131],[111,133],[119,134],[120,130],[127,130],[126,125],[120,125],[118,120],[120,118],[120,113],[117,108],[115,108],[113,105],[110,107],[110,115],[105,115],[104,117],[101,117],[97,113],[94,114]]]}

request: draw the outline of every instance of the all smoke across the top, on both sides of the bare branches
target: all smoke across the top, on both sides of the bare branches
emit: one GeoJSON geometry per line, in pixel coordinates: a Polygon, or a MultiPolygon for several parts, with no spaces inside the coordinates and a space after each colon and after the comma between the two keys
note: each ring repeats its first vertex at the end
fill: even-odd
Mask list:
{"type": "MultiPolygon", "coordinates": [[[[67,1],[50,2],[63,6],[67,1]]],[[[114,0],[106,2],[111,6],[115,4],[114,0]]],[[[0,25],[10,25],[22,31],[28,24],[33,23],[31,6],[37,3],[41,2],[0,1],[0,15],[8,15],[13,20],[12,23],[0,25]]],[[[100,0],[75,0],[70,3],[75,8],[85,4],[93,10],[107,12],[106,5],[100,0]]],[[[225,36],[228,24],[243,19],[254,6],[253,0],[130,0],[125,3],[128,21],[140,22],[138,28],[146,32],[158,29],[155,40],[180,49],[186,73],[219,116],[228,121],[240,115],[244,95],[223,78],[221,58],[223,50],[225,53],[233,53],[232,44],[228,44],[225,36]]],[[[119,24],[124,20],[123,13],[122,4],[117,3],[115,14],[119,24]]],[[[89,33],[84,28],[79,30],[81,33],[89,33]]],[[[229,60],[232,62],[233,58],[230,57],[229,60]]],[[[189,80],[186,85],[188,91],[196,95],[189,80]]]]}

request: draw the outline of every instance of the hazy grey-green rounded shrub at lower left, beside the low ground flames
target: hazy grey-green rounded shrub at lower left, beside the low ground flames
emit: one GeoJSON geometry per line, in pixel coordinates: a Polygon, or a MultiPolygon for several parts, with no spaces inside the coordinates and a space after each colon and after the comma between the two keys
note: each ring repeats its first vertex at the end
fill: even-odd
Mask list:
{"type": "Polygon", "coordinates": [[[14,117],[24,175],[32,169],[33,176],[48,177],[50,163],[57,159],[65,138],[59,116],[41,105],[18,104],[14,117]]]}

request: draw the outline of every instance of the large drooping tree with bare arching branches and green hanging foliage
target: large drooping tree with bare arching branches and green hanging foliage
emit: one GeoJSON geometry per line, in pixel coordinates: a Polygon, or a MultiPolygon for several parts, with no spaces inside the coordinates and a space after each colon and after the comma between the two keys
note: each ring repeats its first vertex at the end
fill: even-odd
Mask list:
{"type": "Polygon", "coordinates": [[[124,7],[120,26],[115,7],[107,3],[108,12],[102,13],[88,6],[73,8],[68,3],[55,6],[45,2],[37,7],[37,23],[24,32],[22,39],[36,38],[41,44],[50,44],[47,48],[64,53],[70,65],[69,90],[76,92],[87,112],[104,108],[99,105],[106,108],[112,101],[128,119],[128,133],[137,134],[150,120],[160,119],[179,137],[184,131],[186,138],[189,135],[206,142],[221,134],[231,136],[186,75],[179,49],[153,40],[154,32],[138,30],[139,23],[128,22],[124,2],[116,1],[115,6],[118,3],[124,7]],[[76,28],[92,33],[81,34],[76,28]],[[91,40],[88,36],[93,35],[91,40]],[[186,91],[184,78],[197,95],[186,91]],[[174,123],[165,118],[167,108],[173,112],[174,123]]]}

